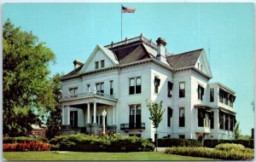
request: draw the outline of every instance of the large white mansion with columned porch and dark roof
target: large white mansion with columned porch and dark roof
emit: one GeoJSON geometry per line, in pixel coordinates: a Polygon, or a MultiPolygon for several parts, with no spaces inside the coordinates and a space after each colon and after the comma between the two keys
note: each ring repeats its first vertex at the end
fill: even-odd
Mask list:
{"type": "Polygon", "coordinates": [[[204,49],[178,55],[140,35],[106,46],[96,45],[83,64],[61,78],[62,130],[108,131],[154,140],[146,100],[166,109],[158,137],[233,139],[235,91],[209,83],[212,72],[204,49]]]}

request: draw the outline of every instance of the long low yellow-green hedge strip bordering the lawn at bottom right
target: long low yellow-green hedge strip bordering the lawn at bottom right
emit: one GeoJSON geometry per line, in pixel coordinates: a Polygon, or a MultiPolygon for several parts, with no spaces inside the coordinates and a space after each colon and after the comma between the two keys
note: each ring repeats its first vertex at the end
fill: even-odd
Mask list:
{"type": "MultiPolygon", "coordinates": [[[[250,150],[251,151],[251,150],[250,150]]],[[[253,159],[254,153],[246,151],[221,151],[209,148],[167,148],[165,153],[211,159],[253,159]]]]}

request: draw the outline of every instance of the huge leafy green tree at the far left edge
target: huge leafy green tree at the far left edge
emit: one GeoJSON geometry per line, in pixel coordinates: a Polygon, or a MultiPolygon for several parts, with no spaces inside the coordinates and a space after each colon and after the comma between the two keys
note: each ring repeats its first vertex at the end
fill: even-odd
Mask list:
{"type": "Polygon", "coordinates": [[[54,107],[49,63],[54,53],[10,20],[3,25],[3,135],[27,136],[54,107]],[[36,113],[35,113],[36,112],[36,113]]]}

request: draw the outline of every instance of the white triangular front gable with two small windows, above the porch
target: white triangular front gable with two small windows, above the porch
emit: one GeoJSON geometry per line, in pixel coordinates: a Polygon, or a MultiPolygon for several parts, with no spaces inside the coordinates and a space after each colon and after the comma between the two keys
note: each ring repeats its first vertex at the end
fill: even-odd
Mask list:
{"type": "Polygon", "coordinates": [[[119,61],[116,60],[115,55],[109,49],[104,48],[103,46],[97,44],[96,48],[90,54],[87,61],[84,63],[84,67],[80,70],[79,74],[84,72],[91,72],[97,70],[95,67],[96,61],[99,62],[99,68],[101,69],[101,61],[104,60],[104,67],[113,67],[119,64],[119,61]]]}

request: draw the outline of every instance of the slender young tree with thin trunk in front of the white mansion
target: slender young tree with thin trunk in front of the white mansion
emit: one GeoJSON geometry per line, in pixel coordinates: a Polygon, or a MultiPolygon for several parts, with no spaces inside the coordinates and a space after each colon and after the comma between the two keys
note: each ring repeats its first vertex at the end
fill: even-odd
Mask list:
{"type": "Polygon", "coordinates": [[[156,134],[156,151],[158,147],[158,142],[157,142],[157,128],[160,124],[160,122],[163,120],[163,114],[165,113],[165,109],[162,110],[162,104],[163,101],[160,101],[160,103],[155,103],[153,101],[147,101],[147,107],[150,113],[149,119],[152,121],[153,127],[155,128],[155,134],[156,134]]]}

